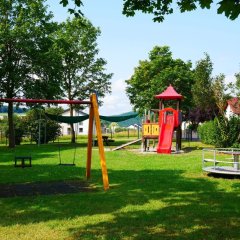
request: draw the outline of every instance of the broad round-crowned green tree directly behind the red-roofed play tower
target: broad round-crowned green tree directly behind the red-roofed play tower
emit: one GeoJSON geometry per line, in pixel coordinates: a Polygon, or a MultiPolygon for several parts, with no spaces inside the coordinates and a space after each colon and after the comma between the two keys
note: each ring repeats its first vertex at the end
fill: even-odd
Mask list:
{"type": "Polygon", "coordinates": [[[172,84],[184,96],[182,109],[188,111],[192,99],[191,66],[191,62],[173,59],[168,46],[155,46],[149,53],[149,60],[139,61],[134,74],[126,80],[126,92],[134,109],[143,113],[145,109],[158,108],[154,96],[172,84]]]}

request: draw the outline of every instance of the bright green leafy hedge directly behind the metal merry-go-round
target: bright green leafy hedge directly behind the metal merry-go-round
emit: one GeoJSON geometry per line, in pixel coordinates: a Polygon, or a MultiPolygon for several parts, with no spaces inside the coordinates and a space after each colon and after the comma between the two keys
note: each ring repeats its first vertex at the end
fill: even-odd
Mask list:
{"type": "Polygon", "coordinates": [[[201,141],[216,147],[236,147],[240,143],[240,118],[220,116],[198,127],[201,141]]]}

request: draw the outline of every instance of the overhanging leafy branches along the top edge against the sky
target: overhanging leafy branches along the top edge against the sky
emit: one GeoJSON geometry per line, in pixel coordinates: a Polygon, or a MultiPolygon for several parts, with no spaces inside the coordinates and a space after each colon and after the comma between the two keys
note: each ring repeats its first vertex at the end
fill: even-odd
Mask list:
{"type": "MultiPolygon", "coordinates": [[[[73,2],[75,7],[82,7],[83,0],[60,0],[63,6],[67,6],[69,2],[73,2]]],[[[137,11],[146,14],[153,14],[153,21],[162,22],[164,17],[168,14],[173,14],[174,7],[180,9],[180,12],[193,11],[197,8],[210,9],[213,5],[213,0],[178,0],[176,3],[172,0],[124,0],[123,14],[127,17],[132,17],[137,11]]],[[[225,14],[231,20],[238,18],[240,14],[240,1],[239,0],[221,0],[216,3],[218,6],[217,13],[225,14]]],[[[80,8],[69,8],[69,12],[76,16],[83,15],[80,8]]]]}

